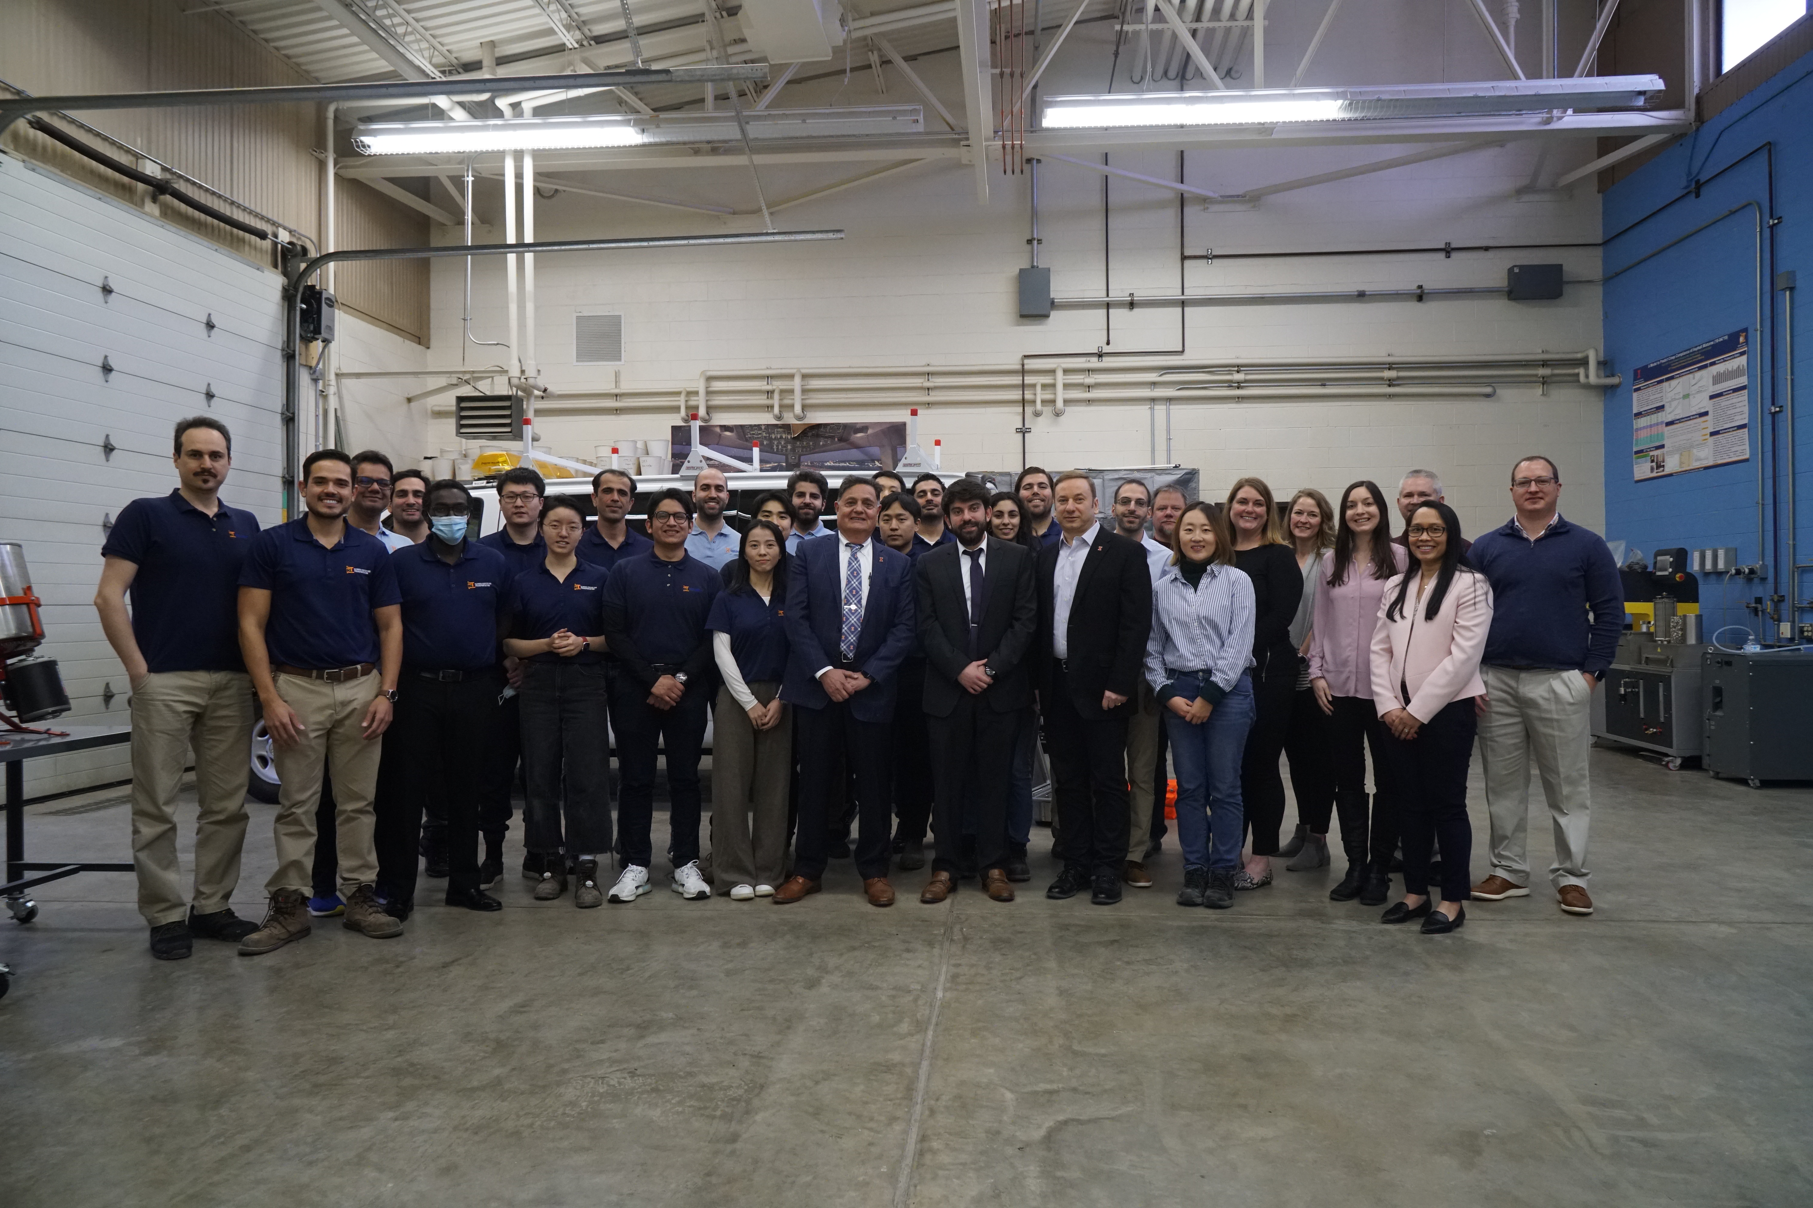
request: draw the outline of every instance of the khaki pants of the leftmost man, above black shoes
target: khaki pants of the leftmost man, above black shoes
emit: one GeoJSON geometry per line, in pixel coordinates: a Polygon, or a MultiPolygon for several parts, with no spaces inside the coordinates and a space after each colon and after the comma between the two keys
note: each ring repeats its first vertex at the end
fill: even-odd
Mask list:
{"type": "Polygon", "coordinates": [[[132,864],[138,913],[152,927],[183,922],[176,790],[196,755],[198,915],[227,909],[245,848],[252,761],[252,679],[245,672],[152,672],[132,690],[132,864]]]}

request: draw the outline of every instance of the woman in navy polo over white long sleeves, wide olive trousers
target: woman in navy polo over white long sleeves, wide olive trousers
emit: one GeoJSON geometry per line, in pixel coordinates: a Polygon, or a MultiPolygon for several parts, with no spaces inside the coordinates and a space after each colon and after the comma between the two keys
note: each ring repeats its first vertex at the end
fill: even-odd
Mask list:
{"type": "Polygon", "coordinates": [[[787,672],[785,551],[780,525],[752,520],[705,619],[723,677],[711,753],[711,860],[718,893],[738,902],[772,896],[787,862],[792,714],[778,695],[787,672]]]}

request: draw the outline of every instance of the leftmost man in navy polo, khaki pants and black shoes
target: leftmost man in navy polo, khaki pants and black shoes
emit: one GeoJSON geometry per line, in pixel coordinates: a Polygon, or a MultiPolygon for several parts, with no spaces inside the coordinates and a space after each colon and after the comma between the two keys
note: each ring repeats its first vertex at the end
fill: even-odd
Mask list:
{"type": "Polygon", "coordinates": [[[232,435],[219,420],[181,420],[172,462],[179,485],[132,500],[114,522],[94,592],[102,632],[132,686],[132,864],[158,960],[189,956],[194,935],[238,944],[256,931],[227,902],[239,884],[252,743],[234,601],[257,518],[219,500],[232,469],[232,435]],[[201,808],[192,907],[176,858],[176,790],[190,746],[201,808]]]}

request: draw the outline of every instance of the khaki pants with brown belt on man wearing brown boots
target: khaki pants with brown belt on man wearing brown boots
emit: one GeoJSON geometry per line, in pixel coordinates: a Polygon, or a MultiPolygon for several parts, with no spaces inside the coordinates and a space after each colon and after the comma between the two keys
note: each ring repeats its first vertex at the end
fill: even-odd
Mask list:
{"type": "Polygon", "coordinates": [[[296,710],[305,733],[290,746],[272,743],[277,764],[277,869],[265,882],[277,889],[310,891],[315,858],[315,806],[321,802],[321,772],[334,773],[334,837],[339,857],[341,896],[377,882],[372,797],[384,739],[366,739],[359,723],[377,695],[377,672],[346,683],[323,683],[305,676],[277,674],[277,695],[296,710]]]}

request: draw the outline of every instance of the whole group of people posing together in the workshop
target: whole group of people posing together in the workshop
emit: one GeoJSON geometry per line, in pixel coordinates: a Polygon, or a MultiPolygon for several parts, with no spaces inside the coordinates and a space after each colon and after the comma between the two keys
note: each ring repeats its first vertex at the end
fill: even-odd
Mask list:
{"type": "Polygon", "coordinates": [[[1354,482],[1282,509],[1258,478],[1218,503],[1128,478],[1104,507],[1082,471],[1028,467],[995,493],[888,471],[832,491],[801,469],[742,531],[705,469],[645,500],[644,534],[627,473],[593,478],[587,516],[522,467],[497,482],[502,527],[477,538],[464,484],[377,451],[312,453],[303,514],[263,531],[219,498],[223,424],[178,424],[174,462],[169,496],[120,514],[96,594],[132,685],[132,848],[160,958],[194,936],[261,954],[332,916],[401,935],[424,857],[450,906],[502,909],[519,768],[535,898],[635,902],[654,884],[662,753],[682,898],[796,904],[848,858],[892,906],[890,873],[923,869],[930,837],[921,902],[966,878],[1012,902],[1032,878],[1041,741],[1048,898],[1153,886],[1175,768],[1180,906],[1227,907],[1275,858],[1327,866],[1338,822],[1331,898],[1383,906],[1401,869],[1383,922],[1452,931],[1467,900],[1530,893],[1534,761],[1559,906],[1592,911],[1588,701],[1623,599],[1543,456],[1512,467],[1514,516],[1474,542],[1425,469],[1396,498],[1354,482]],[[257,714],[281,782],[261,924],[228,907],[257,714]],[[1474,886],[1476,741],[1492,837],[1474,886]]]}

